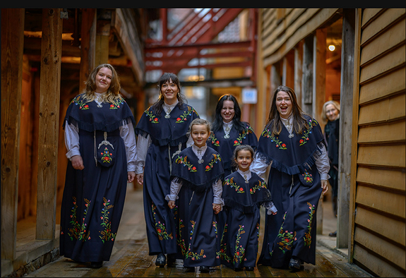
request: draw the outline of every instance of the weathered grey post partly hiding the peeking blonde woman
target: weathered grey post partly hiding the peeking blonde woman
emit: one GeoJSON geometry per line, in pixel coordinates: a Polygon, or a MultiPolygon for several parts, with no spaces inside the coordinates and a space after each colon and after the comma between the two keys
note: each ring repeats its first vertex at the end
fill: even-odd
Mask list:
{"type": "Polygon", "coordinates": [[[354,85],[355,11],[343,10],[340,92],[340,145],[338,155],[337,248],[348,248],[352,148],[352,94],[354,85]]]}

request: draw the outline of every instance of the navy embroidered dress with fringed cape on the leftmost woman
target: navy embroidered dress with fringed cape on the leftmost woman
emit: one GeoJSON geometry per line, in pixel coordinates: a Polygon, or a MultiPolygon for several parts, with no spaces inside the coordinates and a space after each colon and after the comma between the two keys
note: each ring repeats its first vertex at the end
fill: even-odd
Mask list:
{"type": "Polygon", "coordinates": [[[68,162],[59,252],[79,262],[106,261],[117,236],[127,188],[126,147],[119,127],[135,121],[123,98],[97,107],[95,101],[83,101],[83,94],[69,104],[64,128],[66,121],[79,128],[85,168],[73,169],[68,162]],[[114,150],[102,144],[105,135],[114,150]]]}

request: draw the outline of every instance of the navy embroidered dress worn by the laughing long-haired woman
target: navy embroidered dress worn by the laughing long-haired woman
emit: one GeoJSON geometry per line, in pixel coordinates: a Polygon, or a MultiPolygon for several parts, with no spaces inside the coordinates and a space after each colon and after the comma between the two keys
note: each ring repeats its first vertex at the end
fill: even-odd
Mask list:
{"type": "Polygon", "coordinates": [[[316,210],[322,188],[314,155],[321,155],[323,133],[316,120],[305,118],[309,128],[301,134],[289,138],[282,125],[280,135],[274,136],[268,125],[258,140],[258,155],[273,161],[268,186],[278,211],[265,218],[258,265],[287,268],[292,255],[315,264],[316,210]]]}

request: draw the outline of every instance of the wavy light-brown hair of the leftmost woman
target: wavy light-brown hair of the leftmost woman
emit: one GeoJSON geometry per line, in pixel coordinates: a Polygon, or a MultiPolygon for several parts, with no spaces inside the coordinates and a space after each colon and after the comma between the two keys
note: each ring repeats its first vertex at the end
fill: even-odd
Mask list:
{"type": "Polygon", "coordinates": [[[102,100],[104,102],[114,103],[117,101],[117,99],[119,99],[119,97],[121,97],[121,85],[117,71],[110,64],[100,64],[96,68],[93,68],[88,76],[88,80],[86,80],[85,82],[86,86],[82,91],[83,93],[85,93],[83,99],[85,99],[86,102],[92,102],[95,99],[96,75],[97,73],[99,73],[100,68],[109,68],[109,70],[112,71],[112,80],[110,81],[110,86],[107,89],[107,93],[102,96],[102,100]]]}

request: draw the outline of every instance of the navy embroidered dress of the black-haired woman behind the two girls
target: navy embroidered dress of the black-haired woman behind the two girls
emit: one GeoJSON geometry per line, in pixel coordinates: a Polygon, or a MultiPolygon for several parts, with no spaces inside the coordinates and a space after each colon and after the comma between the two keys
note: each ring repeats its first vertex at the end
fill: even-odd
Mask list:
{"type": "Polygon", "coordinates": [[[231,165],[235,147],[238,145],[250,145],[255,152],[258,145],[258,139],[249,123],[242,123],[244,123],[245,131],[239,132],[233,123],[232,128],[229,131],[229,138],[227,138],[224,128],[220,128],[219,131],[210,133],[210,138],[208,138],[207,141],[208,147],[213,147],[214,150],[220,153],[223,159],[225,176],[228,176],[232,171],[235,171],[232,170],[231,165]]]}

